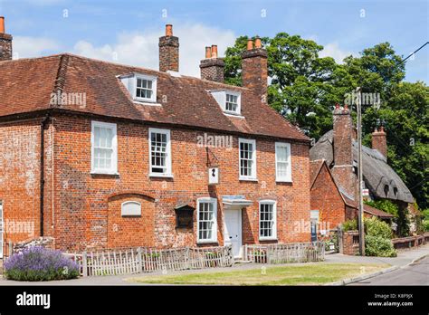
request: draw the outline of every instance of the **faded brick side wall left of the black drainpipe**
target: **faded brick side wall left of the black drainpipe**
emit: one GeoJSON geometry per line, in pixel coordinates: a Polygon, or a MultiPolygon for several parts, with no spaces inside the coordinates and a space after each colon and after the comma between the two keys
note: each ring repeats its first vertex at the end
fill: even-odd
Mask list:
{"type": "Polygon", "coordinates": [[[0,124],[0,201],[5,242],[40,234],[41,120],[0,124]]]}

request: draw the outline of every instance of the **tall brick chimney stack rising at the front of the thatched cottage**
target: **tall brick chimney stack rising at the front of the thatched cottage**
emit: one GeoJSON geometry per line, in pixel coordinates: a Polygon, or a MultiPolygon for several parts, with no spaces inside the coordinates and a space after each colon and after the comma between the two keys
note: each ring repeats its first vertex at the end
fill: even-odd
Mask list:
{"type": "Polygon", "coordinates": [[[350,197],[356,196],[357,177],[353,167],[353,120],[350,110],[335,105],[334,115],[334,167],[332,175],[338,186],[350,197]]]}

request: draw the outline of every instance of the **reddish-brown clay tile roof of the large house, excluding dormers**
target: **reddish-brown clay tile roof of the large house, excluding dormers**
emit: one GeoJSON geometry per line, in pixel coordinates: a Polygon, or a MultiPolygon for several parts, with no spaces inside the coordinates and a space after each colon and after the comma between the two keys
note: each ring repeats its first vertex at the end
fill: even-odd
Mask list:
{"type": "Polygon", "coordinates": [[[249,89],[72,54],[0,62],[0,117],[49,110],[53,91],[86,93],[85,107],[69,105],[61,110],[310,141],[300,129],[263,104],[249,89]],[[118,76],[132,72],[157,76],[157,102],[162,106],[132,101],[118,79],[118,76]],[[242,93],[244,119],[224,115],[208,92],[216,89],[242,93]]]}

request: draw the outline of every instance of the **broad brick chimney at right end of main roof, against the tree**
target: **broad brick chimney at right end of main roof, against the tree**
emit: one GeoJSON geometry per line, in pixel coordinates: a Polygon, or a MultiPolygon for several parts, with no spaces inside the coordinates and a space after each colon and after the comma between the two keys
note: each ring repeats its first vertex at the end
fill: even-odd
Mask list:
{"type": "Polygon", "coordinates": [[[267,78],[267,52],[262,48],[261,39],[255,39],[254,47],[252,39],[249,39],[247,50],[242,54],[243,87],[252,89],[263,103],[267,103],[267,78]]]}

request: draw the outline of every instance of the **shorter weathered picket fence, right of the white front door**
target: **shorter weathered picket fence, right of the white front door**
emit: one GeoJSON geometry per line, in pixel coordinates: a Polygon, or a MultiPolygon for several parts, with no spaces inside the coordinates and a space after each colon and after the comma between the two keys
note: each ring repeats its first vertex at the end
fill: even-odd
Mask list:
{"type": "Polygon", "coordinates": [[[256,263],[322,262],[325,244],[275,243],[244,245],[244,260],[256,263]]]}

